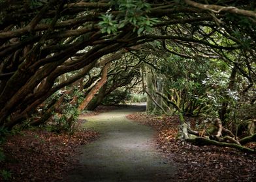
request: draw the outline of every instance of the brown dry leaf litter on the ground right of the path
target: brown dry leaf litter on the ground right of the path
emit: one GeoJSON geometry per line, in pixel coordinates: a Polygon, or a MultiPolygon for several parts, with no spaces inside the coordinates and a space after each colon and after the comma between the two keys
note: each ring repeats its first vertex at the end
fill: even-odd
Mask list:
{"type": "MultiPolygon", "coordinates": [[[[157,130],[157,146],[178,166],[179,181],[256,181],[256,155],[216,146],[193,146],[177,140],[177,116],[131,114],[127,118],[157,130]]],[[[187,118],[191,123],[194,118],[187,118]]]]}

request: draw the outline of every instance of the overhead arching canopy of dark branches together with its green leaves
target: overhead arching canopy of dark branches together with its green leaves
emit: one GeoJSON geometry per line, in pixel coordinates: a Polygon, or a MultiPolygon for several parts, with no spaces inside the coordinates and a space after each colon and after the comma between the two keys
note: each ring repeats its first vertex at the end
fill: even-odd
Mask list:
{"type": "Polygon", "coordinates": [[[255,83],[255,1],[0,4],[1,126],[11,128],[42,114],[39,108],[47,98],[79,79],[91,78],[80,85],[89,90],[95,81],[90,77],[93,68],[121,62],[112,55],[132,53],[152,66],[155,62],[145,61],[144,55],[159,49],[205,64],[218,59],[246,79],[245,90],[255,83]]]}

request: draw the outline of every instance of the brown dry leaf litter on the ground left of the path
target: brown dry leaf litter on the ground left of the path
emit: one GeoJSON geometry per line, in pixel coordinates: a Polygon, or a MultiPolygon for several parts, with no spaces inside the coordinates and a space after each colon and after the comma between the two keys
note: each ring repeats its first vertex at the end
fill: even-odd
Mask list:
{"type": "Polygon", "coordinates": [[[10,181],[56,181],[72,169],[78,146],[95,137],[94,131],[79,131],[72,136],[22,131],[7,138],[3,145],[7,159],[0,163],[0,168],[12,173],[10,181]]]}

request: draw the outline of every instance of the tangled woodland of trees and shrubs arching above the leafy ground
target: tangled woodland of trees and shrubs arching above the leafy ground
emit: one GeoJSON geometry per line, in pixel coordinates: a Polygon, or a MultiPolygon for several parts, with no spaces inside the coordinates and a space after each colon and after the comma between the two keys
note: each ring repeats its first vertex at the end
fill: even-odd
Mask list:
{"type": "Polygon", "coordinates": [[[146,101],[182,142],[256,153],[255,31],[253,0],[1,0],[0,146],[146,101]]]}

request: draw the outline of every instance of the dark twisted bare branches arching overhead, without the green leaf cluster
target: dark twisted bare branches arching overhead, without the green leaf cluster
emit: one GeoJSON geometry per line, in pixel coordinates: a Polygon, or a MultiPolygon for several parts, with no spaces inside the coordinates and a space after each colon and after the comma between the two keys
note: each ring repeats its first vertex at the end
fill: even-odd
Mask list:
{"type": "MultiPolygon", "coordinates": [[[[181,45],[180,47],[188,48],[197,47],[200,44],[198,49],[196,48],[202,50],[199,51],[200,53],[210,47],[215,49],[214,51],[217,51],[217,49],[232,51],[242,47],[239,41],[232,45],[217,44],[207,37],[197,39],[200,36],[184,36],[180,31],[170,32],[170,35],[167,36],[150,34],[140,36],[136,34],[136,29],[133,31],[133,26],[129,25],[118,29],[116,34],[106,34],[102,33],[98,26],[99,21],[101,21],[99,15],[110,13],[116,17],[123,13],[118,12],[116,8],[109,9],[110,3],[82,1],[74,3],[73,1],[57,0],[40,1],[40,3],[39,6],[33,7],[30,6],[31,1],[24,1],[24,4],[22,4],[22,1],[18,1],[17,5],[8,3],[7,6],[0,7],[0,66],[5,65],[5,68],[10,68],[10,70],[0,72],[0,77],[6,79],[1,81],[0,86],[0,126],[7,123],[7,118],[12,118],[10,116],[14,114],[18,114],[18,118],[22,118],[25,114],[32,112],[44,99],[50,96],[48,93],[52,94],[56,88],[61,88],[61,86],[63,87],[70,82],[70,80],[67,80],[54,86],[59,75],[80,70],[104,55],[118,51],[123,47],[126,49],[126,47],[144,44],[156,39],[168,39],[174,44],[181,45]],[[86,16],[82,16],[82,14],[86,14],[86,16]],[[52,22],[49,22],[49,20],[52,22]],[[14,55],[17,51],[21,52],[18,57],[14,55]],[[11,57],[16,57],[15,61],[10,59],[11,57]],[[73,59],[74,57],[75,59],[73,59]],[[45,80],[45,83],[42,82],[43,80],[45,80]],[[40,89],[37,89],[40,83],[42,85],[40,85],[40,89]]],[[[185,25],[193,22],[191,27],[202,25],[202,27],[215,29],[212,14],[211,16],[208,15],[209,8],[210,10],[219,11],[219,15],[214,17],[221,18],[223,21],[225,21],[224,14],[226,12],[237,13],[234,10],[238,11],[238,14],[246,12],[247,14],[244,15],[249,16],[248,20],[254,20],[251,11],[242,11],[229,6],[223,8],[207,5],[207,8],[204,9],[193,1],[187,1],[187,3],[192,3],[190,6],[167,1],[164,4],[163,2],[151,3],[152,10],[142,12],[142,14],[149,18],[161,19],[161,16],[167,18],[166,21],[161,22],[162,24],[154,25],[155,27],[167,27],[168,25],[174,25],[173,27],[175,27],[175,25],[185,25]],[[180,16],[179,13],[184,16],[180,16]],[[180,18],[174,20],[172,16],[180,18]],[[168,18],[170,18],[170,21],[168,18]]],[[[251,5],[249,3],[245,3],[242,7],[249,9],[249,5],[251,5]]],[[[230,21],[230,27],[233,24],[235,26],[236,20],[230,21]]],[[[229,28],[229,25],[227,25],[227,28],[229,28]]],[[[171,26],[168,27],[168,30],[171,29],[171,26]]],[[[249,28],[248,30],[250,31],[249,28]]],[[[190,32],[190,30],[185,32],[190,32]]],[[[219,33],[227,38],[231,37],[226,31],[219,31],[219,33]]],[[[254,34],[254,32],[248,32],[247,34],[246,31],[244,35],[248,35],[247,38],[254,38],[254,34]]],[[[251,45],[253,43],[249,44],[249,46],[251,45]]],[[[189,52],[193,51],[194,49],[189,52]]],[[[242,70],[242,66],[240,70],[242,70]]],[[[250,73],[254,72],[250,71],[250,73]]]]}

